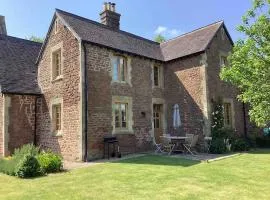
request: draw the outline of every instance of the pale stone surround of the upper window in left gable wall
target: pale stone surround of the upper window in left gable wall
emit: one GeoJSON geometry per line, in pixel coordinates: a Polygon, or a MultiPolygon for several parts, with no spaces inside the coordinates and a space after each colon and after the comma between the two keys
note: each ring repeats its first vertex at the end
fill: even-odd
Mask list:
{"type": "Polygon", "coordinates": [[[51,48],[51,81],[57,81],[61,80],[63,78],[63,65],[64,64],[64,57],[63,57],[63,43],[59,43],[58,45],[51,48]],[[61,74],[56,76],[55,72],[55,61],[54,61],[54,55],[60,51],[60,67],[61,67],[61,74]]]}

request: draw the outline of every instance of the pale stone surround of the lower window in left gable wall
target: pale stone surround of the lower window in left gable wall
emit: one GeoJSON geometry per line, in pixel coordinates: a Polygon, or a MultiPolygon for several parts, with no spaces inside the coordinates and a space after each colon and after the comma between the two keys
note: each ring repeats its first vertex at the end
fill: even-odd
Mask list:
{"type": "Polygon", "coordinates": [[[62,136],[63,133],[63,99],[62,98],[55,98],[51,100],[51,105],[50,105],[50,117],[51,117],[51,133],[53,136],[62,136]],[[56,125],[55,125],[55,113],[54,113],[54,107],[55,106],[60,106],[61,107],[61,119],[60,119],[60,130],[56,130],[56,125]]]}

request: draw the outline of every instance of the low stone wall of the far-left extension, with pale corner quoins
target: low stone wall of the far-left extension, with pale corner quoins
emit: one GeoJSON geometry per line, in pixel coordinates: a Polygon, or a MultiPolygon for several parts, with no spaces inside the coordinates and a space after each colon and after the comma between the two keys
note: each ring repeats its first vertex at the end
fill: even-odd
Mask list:
{"type": "Polygon", "coordinates": [[[0,97],[0,153],[12,155],[16,148],[34,142],[35,98],[3,94],[0,97]]]}

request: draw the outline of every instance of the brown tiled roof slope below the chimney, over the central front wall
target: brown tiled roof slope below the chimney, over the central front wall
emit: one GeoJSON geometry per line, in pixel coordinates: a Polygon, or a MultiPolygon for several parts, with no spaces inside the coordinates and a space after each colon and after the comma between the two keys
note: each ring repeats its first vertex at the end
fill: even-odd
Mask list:
{"type": "Polygon", "coordinates": [[[62,10],[57,9],[56,13],[83,41],[155,60],[163,60],[161,49],[157,42],[125,31],[113,30],[101,23],[62,10]]]}

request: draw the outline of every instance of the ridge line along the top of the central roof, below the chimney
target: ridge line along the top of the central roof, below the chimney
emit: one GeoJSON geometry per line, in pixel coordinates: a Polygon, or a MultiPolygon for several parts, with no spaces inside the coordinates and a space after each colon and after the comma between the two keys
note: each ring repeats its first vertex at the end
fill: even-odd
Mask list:
{"type": "Polygon", "coordinates": [[[144,37],[142,37],[142,36],[135,35],[135,34],[133,34],[133,33],[129,33],[129,32],[127,32],[127,31],[123,31],[123,30],[114,30],[114,29],[112,29],[112,28],[110,28],[110,27],[108,27],[108,26],[106,26],[106,25],[104,25],[104,24],[102,24],[102,23],[99,23],[99,22],[97,22],[97,21],[88,19],[88,18],[86,18],[86,17],[82,17],[82,16],[79,16],[79,15],[76,15],[76,14],[73,14],[73,13],[70,13],[70,12],[67,12],[67,11],[64,11],[64,10],[60,10],[60,9],[58,9],[58,8],[56,8],[55,10],[56,10],[56,12],[62,12],[62,13],[67,14],[67,15],[69,15],[69,16],[79,18],[79,19],[81,19],[81,20],[87,21],[87,22],[92,23],[92,24],[95,24],[95,25],[97,25],[97,26],[101,26],[101,27],[106,28],[106,29],[108,29],[108,30],[111,30],[111,31],[114,31],[114,32],[118,32],[118,33],[122,33],[122,34],[125,34],[125,35],[128,35],[128,36],[131,36],[131,37],[135,37],[135,38],[140,39],[140,40],[144,40],[144,41],[149,42],[149,43],[152,43],[152,44],[159,45],[158,42],[155,42],[155,41],[153,41],[153,40],[144,38],[144,37]]]}

